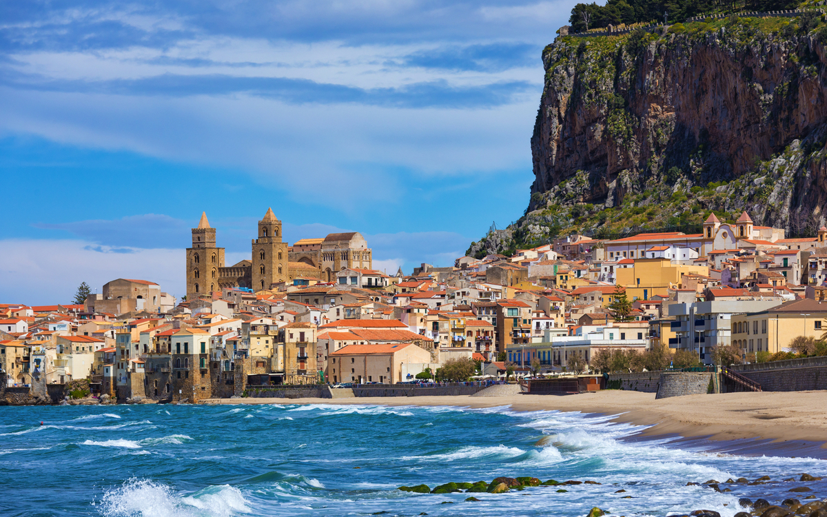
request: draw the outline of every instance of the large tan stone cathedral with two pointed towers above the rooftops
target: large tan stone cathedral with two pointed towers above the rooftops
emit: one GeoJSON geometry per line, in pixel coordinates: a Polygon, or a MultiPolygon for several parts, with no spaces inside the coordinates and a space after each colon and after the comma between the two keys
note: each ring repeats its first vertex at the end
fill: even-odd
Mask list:
{"type": "Polygon", "coordinates": [[[331,233],[302,239],[288,247],[282,240],[281,221],[267,208],[252,240],[250,261],[224,266],[224,248],[218,247],[215,228],[207,213],[193,228],[193,246],[187,248],[187,299],[226,287],[265,290],[297,278],[335,280],[338,271],[371,269],[372,251],[359,232],[331,233]]]}

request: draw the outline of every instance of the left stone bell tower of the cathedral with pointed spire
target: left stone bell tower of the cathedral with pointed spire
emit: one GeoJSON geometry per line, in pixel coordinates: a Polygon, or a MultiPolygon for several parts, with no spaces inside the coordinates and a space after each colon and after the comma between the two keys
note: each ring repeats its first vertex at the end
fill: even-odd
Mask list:
{"type": "Polygon", "coordinates": [[[198,227],[193,228],[193,247],[187,248],[187,299],[221,289],[220,267],[224,267],[224,248],[216,246],[215,228],[209,226],[204,212],[198,227]]]}

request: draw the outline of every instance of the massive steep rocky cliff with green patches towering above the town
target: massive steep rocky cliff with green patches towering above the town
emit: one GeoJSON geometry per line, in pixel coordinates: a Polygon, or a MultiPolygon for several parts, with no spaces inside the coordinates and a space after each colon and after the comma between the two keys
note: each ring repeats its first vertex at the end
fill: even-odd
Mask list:
{"type": "Polygon", "coordinates": [[[505,246],[500,235],[469,253],[689,228],[711,210],[815,234],[827,199],[827,24],[804,18],[557,37],[543,50],[526,214],[505,246]]]}

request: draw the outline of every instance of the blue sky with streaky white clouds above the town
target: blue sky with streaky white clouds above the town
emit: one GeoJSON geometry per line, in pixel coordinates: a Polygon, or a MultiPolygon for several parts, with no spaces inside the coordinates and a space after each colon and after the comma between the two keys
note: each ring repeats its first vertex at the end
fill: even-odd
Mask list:
{"type": "Polygon", "coordinates": [[[117,278],[180,298],[204,211],[227,265],[272,207],[291,243],[452,266],[528,205],[574,3],[2,2],[0,303],[117,278]]]}

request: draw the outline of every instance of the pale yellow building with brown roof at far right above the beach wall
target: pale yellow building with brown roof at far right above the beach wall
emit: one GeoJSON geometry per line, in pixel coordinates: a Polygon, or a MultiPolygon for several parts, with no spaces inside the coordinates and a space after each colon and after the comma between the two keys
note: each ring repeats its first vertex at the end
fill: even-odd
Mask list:
{"type": "Polygon", "coordinates": [[[827,332],[827,303],[797,299],[752,314],[734,314],[732,344],[750,352],[782,352],[799,336],[820,339],[827,332]]]}

